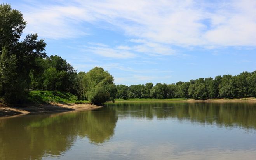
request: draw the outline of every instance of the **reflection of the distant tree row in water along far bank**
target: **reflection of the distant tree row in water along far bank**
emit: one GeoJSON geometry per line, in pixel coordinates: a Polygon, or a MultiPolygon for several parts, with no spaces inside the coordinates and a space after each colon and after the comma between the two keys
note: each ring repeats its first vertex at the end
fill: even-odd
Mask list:
{"type": "Polygon", "coordinates": [[[201,124],[256,129],[256,104],[250,103],[108,103],[120,117],[177,118],[201,124]]]}

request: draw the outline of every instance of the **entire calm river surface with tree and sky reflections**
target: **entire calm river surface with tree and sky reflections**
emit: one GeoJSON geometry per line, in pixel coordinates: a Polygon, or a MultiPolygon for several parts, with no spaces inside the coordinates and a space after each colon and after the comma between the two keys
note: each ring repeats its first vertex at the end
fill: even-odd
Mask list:
{"type": "Polygon", "coordinates": [[[256,159],[256,104],[107,103],[0,117],[0,159],[256,159]]]}

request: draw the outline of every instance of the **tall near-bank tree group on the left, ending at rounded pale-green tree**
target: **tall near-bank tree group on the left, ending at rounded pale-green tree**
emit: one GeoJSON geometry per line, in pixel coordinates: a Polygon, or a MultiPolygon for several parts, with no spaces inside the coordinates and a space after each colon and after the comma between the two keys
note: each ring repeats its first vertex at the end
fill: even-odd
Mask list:
{"type": "Polygon", "coordinates": [[[37,34],[20,40],[26,21],[9,4],[0,5],[0,100],[25,103],[30,90],[56,90],[76,94],[94,104],[113,101],[113,76],[103,68],[77,73],[61,57],[47,56],[46,43],[37,34]]]}

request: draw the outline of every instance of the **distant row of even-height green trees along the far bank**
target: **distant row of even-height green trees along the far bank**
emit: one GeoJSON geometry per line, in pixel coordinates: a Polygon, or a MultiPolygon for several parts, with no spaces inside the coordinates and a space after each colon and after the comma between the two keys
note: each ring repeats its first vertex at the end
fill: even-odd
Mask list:
{"type": "Polygon", "coordinates": [[[244,98],[256,97],[256,71],[215,78],[199,78],[172,84],[117,85],[117,98],[244,98]]]}

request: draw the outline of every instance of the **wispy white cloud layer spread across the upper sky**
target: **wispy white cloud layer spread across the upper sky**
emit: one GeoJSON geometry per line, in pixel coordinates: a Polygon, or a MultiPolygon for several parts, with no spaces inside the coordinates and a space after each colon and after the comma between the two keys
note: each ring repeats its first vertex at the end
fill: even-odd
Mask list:
{"type": "Polygon", "coordinates": [[[134,47],[138,52],[164,55],[173,51],[165,45],[256,46],[255,0],[73,0],[58,4],[23,12],[28,21],[26,32],[38,32],[46,38],[73,38],[90,34],[86,23],[91,23],[145,41],[134,47]]]}

